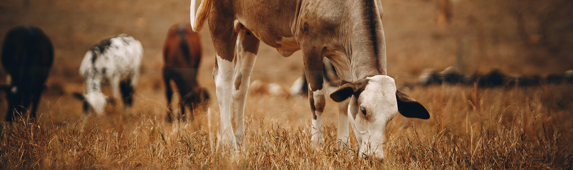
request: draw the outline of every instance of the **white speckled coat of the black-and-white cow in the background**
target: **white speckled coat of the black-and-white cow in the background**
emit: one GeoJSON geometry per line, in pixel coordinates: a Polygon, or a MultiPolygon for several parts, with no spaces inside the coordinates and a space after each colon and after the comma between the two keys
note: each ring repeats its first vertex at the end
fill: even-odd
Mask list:
{"type": "Polygon", "coordinates": [[[80,75],[84,77],[85,97],[89,107],[98,114],[104,112],[107,96],[101,93],[103,82],[110,83],[113,97],[121,101],[119,83],[130,80],[132,86],[137,84],[142,56],[141,42],[127,34],[110,38],[109,46],[103,53],[99,50],[93,52],[92,49],[85,53],[80,65],[80,75]]]}

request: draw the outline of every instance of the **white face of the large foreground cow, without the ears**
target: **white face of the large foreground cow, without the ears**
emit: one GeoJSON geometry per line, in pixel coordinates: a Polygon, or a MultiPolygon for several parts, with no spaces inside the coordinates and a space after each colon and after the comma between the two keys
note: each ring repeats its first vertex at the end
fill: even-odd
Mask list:
{"type": "Polygon", "coordinates": [[[368,84],[359,98],[351,98],[348,118],[360,145],[360,152],[383,159],[384,129],[387,122],[398,113],[396,84],[394,78],[389,76],[377,75],[367,79],[368,84]],[[360,108],[366,110],[366,116],[360,108]],[[356,118],[352,117],[353,112],[356,118]]]}

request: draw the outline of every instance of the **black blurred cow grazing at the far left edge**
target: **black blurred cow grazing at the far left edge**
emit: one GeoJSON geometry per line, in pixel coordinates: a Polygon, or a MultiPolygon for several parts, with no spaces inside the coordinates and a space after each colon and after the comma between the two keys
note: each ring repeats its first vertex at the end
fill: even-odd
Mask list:
{"type": "Polygon", "coordinates": [[[21,25],[8,31],[2,46],[2,66],[11,76],[11,84],[3,86],[8,100],[6,121],[14,114],[25,113],[32,104],[32,117],[45,89],[54,59],[52,42],[39,27],[21,25]]]}

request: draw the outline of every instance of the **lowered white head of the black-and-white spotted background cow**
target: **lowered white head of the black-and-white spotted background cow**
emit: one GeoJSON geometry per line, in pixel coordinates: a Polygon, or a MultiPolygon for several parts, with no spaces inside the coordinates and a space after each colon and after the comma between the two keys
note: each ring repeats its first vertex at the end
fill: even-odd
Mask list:
{"type": "Polygon", "coordinates": [[[90,110],[101,115],[105,112],[105,105],[108,102],[113,102],[109,97],[101,92],[90,92],[88,94],[74,93],[76,98],[84,101],[84,113],[89,113],[90,110]]]}

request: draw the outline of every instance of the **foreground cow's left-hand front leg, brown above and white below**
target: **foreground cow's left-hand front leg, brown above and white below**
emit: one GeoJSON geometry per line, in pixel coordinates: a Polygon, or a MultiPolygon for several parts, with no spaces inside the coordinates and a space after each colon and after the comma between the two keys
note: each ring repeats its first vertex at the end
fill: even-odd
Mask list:
{"type": "Polygon", "coordinates": [[[322,50],[316,48],[303,50],[304,70],[308,81],[308,100],[312,111],[311,143],[316,147],[324,143],[320,131],[326,101],[323,88],[323,54],[322,50]]]}

